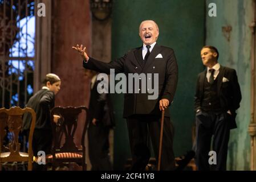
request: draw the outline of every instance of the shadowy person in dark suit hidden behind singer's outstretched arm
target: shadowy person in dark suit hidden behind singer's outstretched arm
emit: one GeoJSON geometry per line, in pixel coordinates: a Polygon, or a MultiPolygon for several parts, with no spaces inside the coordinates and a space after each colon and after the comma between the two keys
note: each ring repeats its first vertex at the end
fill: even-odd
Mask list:
{"type": "Polygon", "coordinates": [[[109,131],[115,126],[111,97],[107,93],[98,93],[97,72],[86,70],[91,79],[91,96],[89,104],[88,143],[92,171],[112,170],[109,159],[109,131]]]}

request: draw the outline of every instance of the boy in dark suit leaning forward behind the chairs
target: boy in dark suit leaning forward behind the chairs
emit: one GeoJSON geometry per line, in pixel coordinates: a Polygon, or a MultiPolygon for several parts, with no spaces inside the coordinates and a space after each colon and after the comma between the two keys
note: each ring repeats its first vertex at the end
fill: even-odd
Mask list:
{"type": "MultiPolygon", "coordinates": [[[[44,151],[46,155],[50,154],[52,145],[50,111],[55,105],[55,94],[59,92],[61,82],[59,76],[48,73],[43,84],[42,89],[36,92],[26,105],[26,107],[32,108],[36,113],[35,130],[32,140],[34,156],[37,156],[38,151],[44,151]]],[[[59,116],[54,115],[54,122],[58,122],[58,119],[59,116]]],[[[23,133],[29,134],[30,125],[31,115],[25,114],[23,117],[23,133]]],[[[39,165],[34,162],[33,170],[46,170],[46,165],[39,165]]]]}

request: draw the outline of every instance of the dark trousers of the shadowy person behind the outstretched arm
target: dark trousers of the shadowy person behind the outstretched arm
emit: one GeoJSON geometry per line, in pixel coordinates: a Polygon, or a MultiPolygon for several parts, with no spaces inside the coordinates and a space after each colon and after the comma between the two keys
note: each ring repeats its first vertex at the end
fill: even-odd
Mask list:
{"type": "Polygon", "coordinates": [[[88,127],[89,157],[92,171],[110,171],[112,165],[109,159],[109,130],[103,123],[96,126],[90,123],[88,127]]]}

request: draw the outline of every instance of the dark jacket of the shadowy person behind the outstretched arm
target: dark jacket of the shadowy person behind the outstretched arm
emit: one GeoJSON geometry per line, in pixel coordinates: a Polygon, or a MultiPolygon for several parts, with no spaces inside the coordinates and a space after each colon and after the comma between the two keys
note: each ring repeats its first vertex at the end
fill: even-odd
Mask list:
{"type": "Polygon", "coordinates": [[[91,89],[89,113],[90,121],[96,118],[98,122],[102,122],[104,126],[115,126],[113,116],[113,106],[110,94],[97,92],[97,85],[100,81],[96,81],[91,89]]]}

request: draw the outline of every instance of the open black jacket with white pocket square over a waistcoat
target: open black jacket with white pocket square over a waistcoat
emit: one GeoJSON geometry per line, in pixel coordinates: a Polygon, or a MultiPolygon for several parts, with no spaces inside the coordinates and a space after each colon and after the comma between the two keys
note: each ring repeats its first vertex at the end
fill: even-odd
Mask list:
{"type": "MultiPolygon", "coordinates": [[[[207,79],[206,72],[207,69],[198,74],[194,104],[195,111],[201,109],[202,97],[204,96],[204,82],[205,79],[207,79]]],[[[231,111],[230,129],[234,129],[237,127],[235,123],[235,110],[240,107],[240,102],[242,99],[237,73],[234,69],[221,66],[217,79],[217,94],[220,96],[222,110],[231,111]],[[229,81],[222,82],[224,77],[229,81]]]]}

